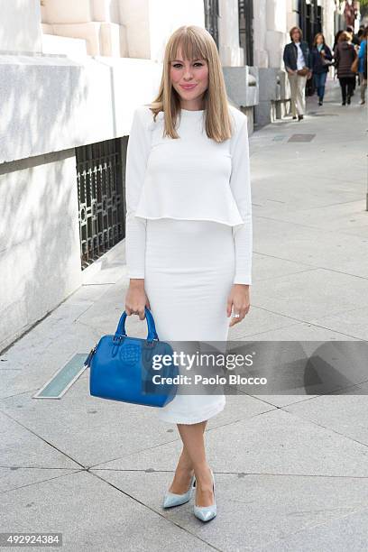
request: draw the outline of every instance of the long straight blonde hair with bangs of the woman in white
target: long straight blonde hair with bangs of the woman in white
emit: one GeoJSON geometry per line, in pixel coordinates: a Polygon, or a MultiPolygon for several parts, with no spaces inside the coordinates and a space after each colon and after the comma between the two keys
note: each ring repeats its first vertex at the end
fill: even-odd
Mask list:
{"type": "Polygon", "coordinates": [[[163,111],[164,135],[179,138],[175,130],[180,115],[180,98],[171,85],[170,63],[178,59],[179,50],[187,60],[206,60],[208,66],[208,87],[204,94],[206,114],[206,132],[208,138],[223,142],[232,136],[225,79],[218,55],[216,42],[206,29],[197,25],[183,25],[173,32],[166,44],[161,76],[161,85],[157,97],[148,106],[156,116],[163,111]]]}

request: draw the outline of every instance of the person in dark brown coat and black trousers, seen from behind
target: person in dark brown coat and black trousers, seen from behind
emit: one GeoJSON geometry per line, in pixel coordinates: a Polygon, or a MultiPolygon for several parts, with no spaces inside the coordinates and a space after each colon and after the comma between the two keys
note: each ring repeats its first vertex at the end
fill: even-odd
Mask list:
{"type": "Polygon", "coordinates": [[[342,32],[335,47],[335,67],[337,68],[337,78],[340,81],[341,93],[343,97],[342,105],[351,104],[351,97],[354,91],[355,74],[351,67],[356,58],[356,51],[350,42],[350,34],[342,32]]]}

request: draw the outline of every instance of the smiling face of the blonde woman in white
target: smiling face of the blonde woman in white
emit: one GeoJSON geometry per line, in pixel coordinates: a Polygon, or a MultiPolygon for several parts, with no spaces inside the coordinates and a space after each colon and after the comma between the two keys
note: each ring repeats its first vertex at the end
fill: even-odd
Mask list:
{"type": "Polygon", "coordinates": [[[182,100],[182,107],[200,109],[201,101],[208,87],[208,65],[206,60],[183,60],[181,51],[177,60],[170,62],[172,87],[182,100]]]}

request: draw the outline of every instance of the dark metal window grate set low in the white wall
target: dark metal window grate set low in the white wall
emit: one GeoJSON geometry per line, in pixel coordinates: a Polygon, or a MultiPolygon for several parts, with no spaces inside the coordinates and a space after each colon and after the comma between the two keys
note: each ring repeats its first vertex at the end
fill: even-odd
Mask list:
{"type": "Polygon", "coordinates": [[[122,139],[76,148],[82,270],[124,239],[122,139]]]}

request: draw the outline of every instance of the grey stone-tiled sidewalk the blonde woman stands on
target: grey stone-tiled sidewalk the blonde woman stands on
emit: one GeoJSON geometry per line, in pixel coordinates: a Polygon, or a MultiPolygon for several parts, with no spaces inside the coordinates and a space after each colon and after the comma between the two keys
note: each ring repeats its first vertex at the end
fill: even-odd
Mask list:
{"type": "MultiPolygon", "coordinates": [[[[252,307],[229,339],[368,340],[359,99],[357,88],[341,106],[329,82],[325,105],[308,98],[304,121],[253,134],[252,307]]],[[[84,279],[0,356],[1,531],[61,532],[62,549],[78,552],[366,550],[368,382],[339,396],[227,396],[207,424],[218,511],[207,524],[192,501],[161,510],[181,450],[176,426],[152,409],[90,397],[87,371],[60,400],[32,399],[73,355],[115,332],[124,244],[84,279]]],[[[146,336],[138,317],[127,330],[146,336]]]]}

